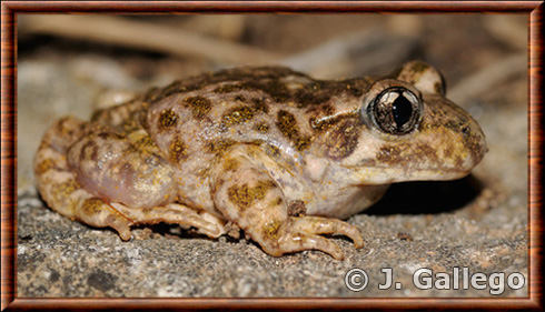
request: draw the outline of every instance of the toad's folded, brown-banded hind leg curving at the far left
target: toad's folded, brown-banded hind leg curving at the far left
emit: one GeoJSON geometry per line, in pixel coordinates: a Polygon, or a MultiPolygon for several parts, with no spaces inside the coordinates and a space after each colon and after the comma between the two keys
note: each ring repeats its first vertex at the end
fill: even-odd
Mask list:
{"type": "Polygon", "coordinates": [[[83,121],[65,117],[48,129],[34,158],[34,175],[42,199],[54,211],[97,228],[113,228],[130,239],[132,221],[81,188],[66,151],[81,135],[83,121]]]}

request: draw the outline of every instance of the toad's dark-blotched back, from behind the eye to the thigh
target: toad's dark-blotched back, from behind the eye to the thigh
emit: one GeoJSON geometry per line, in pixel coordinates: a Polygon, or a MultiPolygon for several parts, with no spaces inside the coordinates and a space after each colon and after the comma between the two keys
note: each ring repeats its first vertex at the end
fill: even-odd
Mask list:
{"type": "Polygon", "coordinates": [[[326,127],[356,112],[369,87],[367,79],[318,81],[285,68],[228,70],[197,81],[172,84],[149,108],[149,132],[174,161],[240,142],[308,151],[326,127]]]}

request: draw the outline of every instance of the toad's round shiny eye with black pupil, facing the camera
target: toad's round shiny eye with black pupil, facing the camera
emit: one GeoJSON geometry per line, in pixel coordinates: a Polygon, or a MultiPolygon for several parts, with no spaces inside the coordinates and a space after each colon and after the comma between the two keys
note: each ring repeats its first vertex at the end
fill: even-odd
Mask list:
{"type": "Polygon", "coordinates": [[[406,134],[420,120],[420,99],[404,87],[392,87],[380,92],[367,105],[367,115],[382,131],[406,134]]]}

